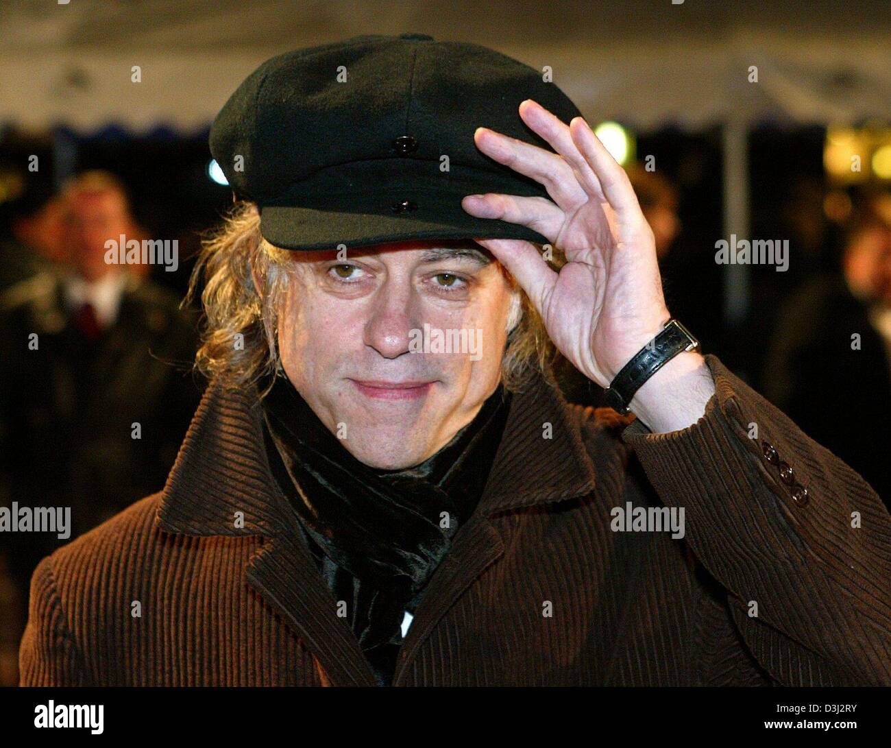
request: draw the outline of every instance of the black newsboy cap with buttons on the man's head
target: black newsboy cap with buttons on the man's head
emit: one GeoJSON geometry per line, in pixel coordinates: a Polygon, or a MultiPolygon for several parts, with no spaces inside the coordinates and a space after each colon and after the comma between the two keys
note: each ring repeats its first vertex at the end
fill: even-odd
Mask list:
{"type": "Polygon", "coordinates": [[[477,127],[551,147],[519,118],[534,99],[580,112],[543,73],[484,46],[422,34],[364,36],[278,55],[249,75],[210,130],[233,191],[290,250],[541,234],[462,209],[473,193],[548,197],[479,152],[477,127]]]}

